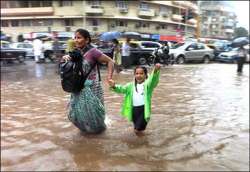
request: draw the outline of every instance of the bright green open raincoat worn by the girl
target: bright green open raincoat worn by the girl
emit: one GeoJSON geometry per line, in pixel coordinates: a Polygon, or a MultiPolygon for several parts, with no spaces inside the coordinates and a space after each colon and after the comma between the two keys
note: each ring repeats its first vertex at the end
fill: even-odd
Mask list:
{"type": "MultiPolygon", "coordinates": [[[[157,86],[160,78],[160,70],[153,70],[150,76],[144,81],[144,119],[148,122],[151,115],[151,98],[153,89],[157,86]]],[[[126,85],[116,84],[114,88],[111,88],[116,93],[125,94],[122,104],[122,115],[129,121],[132,121],[132,109],[133,109],[133,90],[135,87],[134,82],[130,82],[126,85]]]]}

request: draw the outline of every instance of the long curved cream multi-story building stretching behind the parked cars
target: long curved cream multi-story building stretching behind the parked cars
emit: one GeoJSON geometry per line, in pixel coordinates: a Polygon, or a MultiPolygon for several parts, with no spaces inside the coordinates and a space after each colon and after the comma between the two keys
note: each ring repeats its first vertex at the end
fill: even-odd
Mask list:
{"type": "Polygon", "coordinates": [[[197,1],[1,1],[1,30],[13,38],[29,32],[74,31],[92,34],[136,31],[195,37],[197,1]]]}

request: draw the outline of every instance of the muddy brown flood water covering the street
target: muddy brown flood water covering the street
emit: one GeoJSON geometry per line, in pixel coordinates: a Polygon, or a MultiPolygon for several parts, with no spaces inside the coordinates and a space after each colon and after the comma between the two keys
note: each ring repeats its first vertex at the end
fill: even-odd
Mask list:
{"type": "MultiPolygon", "coordinates": [[[[151,120],[137,137],[119,114],[122,95],[107,85],[108,129],[86,135],[67,118],[69,94],[54,64],[2,66],[1,171],[249,171],[249,65],[243,71],[219,63],[163,67],[151,120]]],[[[127,83],[132,72],[114,79],[127,83]]]]}

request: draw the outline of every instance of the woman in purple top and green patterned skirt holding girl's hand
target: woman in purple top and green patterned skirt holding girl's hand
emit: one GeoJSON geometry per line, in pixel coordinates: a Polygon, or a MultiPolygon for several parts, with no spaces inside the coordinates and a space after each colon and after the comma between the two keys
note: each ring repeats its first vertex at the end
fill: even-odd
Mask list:
{"type": "MultiPolygon", "coordinates": [[[[96,48],[91,46],[91,37],[90,37],[90,34],[87,30],[84,30],[84,29],[76,30],[74,42],[75,42],[75,47],[81,51],[81,53],[85,59],[82,63],[83,72],[88,73],[90,70],[91,70],[91,72],[89,73],[88,78],[85,81],[84,88],[82,89],[82,91],[79,94],[73,94],[73,93],[71,94],[69,118],[82,131],[92,132],[92,133],[100,132],[100,130],[94,131],[94,129],[88,129],[88,128],[91,128],[91,126],[86,127],[84,125],[85,124],[92,125],[92,124],[90,124],[92,122],[91,121],[92,116],[96,116],[96,113],[98,112],[98,111],[96,111],[96,113],[95,113],[93,111],[93,109],[95,109],[95,107],[91,107],[91,106],[93,106],[91,104],[91,102],[93,103],[92,97],[94,96],[95,98],[98,99],[97,100],[98,102],[100,102],[102,105],[104,105],[103,88],[102,88],[102,84],[101,84],[101,80],[100,80],[99,71],[97,72],[97,70],[99,70],[98,63],[101,63],[101,64],[106,63],[107,64],[106,82],[108,83],[108,81],[110,79],[112,79],[114,62],[110,57],[108,57],[107,55],[103,54],[101,51],[99,51],[96,48]],[[93,93],[93,96],[89,96],[90,95],[89,93],[85,94],[85,92],[87,92],[89,90],[89,88],[91,90],[91,95],[93,93]],[[88,100],[85,100],[85,99],[88,99],[88,100]],[[87,108],[87,109],[84,109],[84,108],[87,108]],[[80,124],[80,125],[83,125],[83,127],[79,127],[79,125],[76,124],[76,122],[79,122],[79,121],[77,121],[78,119],[76,121],[72,120],[72,118],[73,118],[72,113],[73,113],[73,117],[75,114],[76,114],[75,116],[82,115],[81,118],[82,119],[84,118],[85,121],[83,122],[84,124],[80,124]],[[88,121],[88,120],[90,120],[90,121],[88,121]]],[[[71,59],[71,57],[69,55],[65,55],[62,57],[62,61],[67,61],[70,59],[71,59]]],[[[99,105],[97,105],[97,106],[99,106],[99,105]]],[[[104,114],[104,116],[105,116],[105,114],[104,114]]],[[[104,119],[103,119],[103,121],[101,120],[101,123],[102,122],[104,123],[104,119]]],[[[99,124],[95,123],[95,125],[99,125],[99,124]]],[[[102,125],[102,124],[100,124],[100,125],[102,125]]],[[[96,127],[98,128],[98,126],[96,126],[96,127]]],[[[101,131],[102,130],[103,129],[101,129],[101,131]]]]}

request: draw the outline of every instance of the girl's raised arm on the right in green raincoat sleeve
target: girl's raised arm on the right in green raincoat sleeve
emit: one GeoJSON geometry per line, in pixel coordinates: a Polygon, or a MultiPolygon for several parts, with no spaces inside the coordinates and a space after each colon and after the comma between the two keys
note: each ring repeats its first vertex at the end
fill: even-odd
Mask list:
{"type": "Polygon", "coordinates": [[[161,68],[161,65],[159,63],[155,64],[155,67],[154,67],[152,73],[149,75],[149,77],[147,79],[148,86],[151,89],[154,89],[159,83],[160,68],[161,68]]]}

